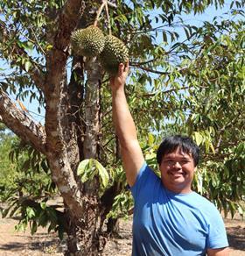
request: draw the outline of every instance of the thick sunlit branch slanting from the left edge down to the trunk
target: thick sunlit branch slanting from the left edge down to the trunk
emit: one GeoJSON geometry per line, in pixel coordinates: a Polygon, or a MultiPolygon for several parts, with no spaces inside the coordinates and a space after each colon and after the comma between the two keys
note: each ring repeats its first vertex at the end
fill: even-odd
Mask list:
{"type": "Polygon", "coordinates": [[[36,124],[25,111],[18,110],[3,89],[0,89],[0,119],[19,138],[45,154],[44,127],[41,124],[36,124]]]}

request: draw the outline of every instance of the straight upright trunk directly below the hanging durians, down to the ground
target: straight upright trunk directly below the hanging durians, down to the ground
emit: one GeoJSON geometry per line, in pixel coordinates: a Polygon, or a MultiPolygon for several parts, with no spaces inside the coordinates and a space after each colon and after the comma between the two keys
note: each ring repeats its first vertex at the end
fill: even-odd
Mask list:
{"type": "MultiPolygon", "coordinates": [[[[83,158],[98,159],[99,142],[101,132],[100,119],[100,86],[102,69],[94,58],[88,60],[85,66],[87,70],[87,83],[84,89],[85,104],[82,116],[84,117],[83,158]]],[[[67,231],[66,255],[100,255],[105,245],[105,239],[101,231],[101,204],[99,198],[99,178],[81,184],[81,217],[74,217],[70,213],[70,225],[67,231]]]]}

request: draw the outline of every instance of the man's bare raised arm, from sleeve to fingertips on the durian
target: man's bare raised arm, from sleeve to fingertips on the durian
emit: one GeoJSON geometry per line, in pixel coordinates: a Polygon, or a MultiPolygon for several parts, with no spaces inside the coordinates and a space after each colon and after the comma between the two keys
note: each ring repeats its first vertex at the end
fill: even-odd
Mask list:
{"type": "Polygon", "coordinates": [[[126,100],[124,85],[129,73],[129,63],[120,64],[118,74],[110,79],[112,91],[113,122],[120,141],[123,168],[127,181],[133,186],[137,173],[144,163],[144,156],[137,140],[137,129],[130,114],[126,100]]]}

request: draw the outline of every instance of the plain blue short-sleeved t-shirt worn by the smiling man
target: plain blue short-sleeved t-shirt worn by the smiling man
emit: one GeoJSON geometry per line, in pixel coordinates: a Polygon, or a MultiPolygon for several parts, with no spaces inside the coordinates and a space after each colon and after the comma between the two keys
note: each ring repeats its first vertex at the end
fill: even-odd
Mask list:
{"type": "Polygon", "coordinates": [[[131,188],[133,256],[197,256],[228,246],[220,212],[195,192],[176,194],[145,163],[131,188]]]}

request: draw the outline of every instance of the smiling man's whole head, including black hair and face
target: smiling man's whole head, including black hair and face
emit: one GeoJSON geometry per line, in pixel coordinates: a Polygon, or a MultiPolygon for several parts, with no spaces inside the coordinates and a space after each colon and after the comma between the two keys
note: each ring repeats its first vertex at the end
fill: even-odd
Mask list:
{"type": "Polygon", "coordinates": [[[164,139],[157,159],[165,188],[175,193],[191,192],[199,157],[200,149],[192,139],[179,135],[164,139]]]}

